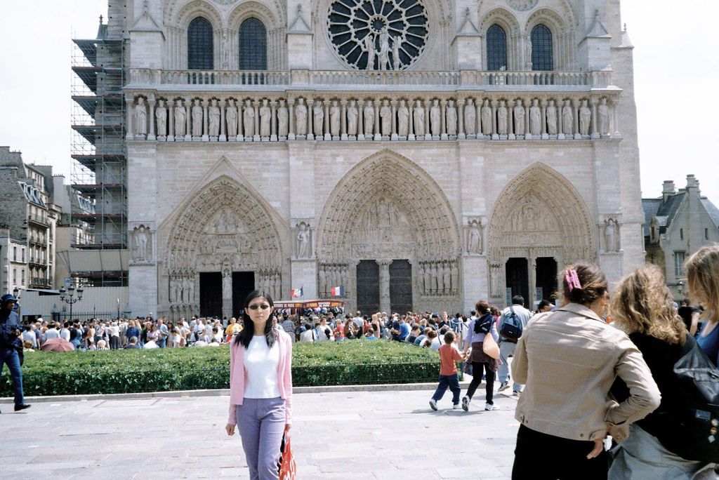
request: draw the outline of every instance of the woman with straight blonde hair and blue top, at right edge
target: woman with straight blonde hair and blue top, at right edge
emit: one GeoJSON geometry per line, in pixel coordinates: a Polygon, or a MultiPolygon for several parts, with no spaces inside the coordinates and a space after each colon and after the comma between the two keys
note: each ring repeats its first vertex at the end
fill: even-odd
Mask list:
{"type": "Polygon", "coordinates": [[[717,364],[719,356],[719,246],[705,246],[687,260],[689,295],[702,305],[702,331],[697,343],[717,364]]]}

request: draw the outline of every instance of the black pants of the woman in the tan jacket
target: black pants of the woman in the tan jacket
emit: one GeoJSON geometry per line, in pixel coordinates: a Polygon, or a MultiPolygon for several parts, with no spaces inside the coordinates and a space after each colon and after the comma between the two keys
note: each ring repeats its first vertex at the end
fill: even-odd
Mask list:
{"type": "Polygon", "coordinates": [[[519,426],[512,480],[606,480],[607,453],[587,459],[592,441],[569,440],[519,426]]]}

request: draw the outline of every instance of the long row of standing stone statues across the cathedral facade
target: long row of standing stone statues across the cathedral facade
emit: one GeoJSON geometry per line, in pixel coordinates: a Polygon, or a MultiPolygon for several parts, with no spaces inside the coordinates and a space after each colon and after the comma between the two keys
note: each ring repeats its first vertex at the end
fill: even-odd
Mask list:
{"type": "MultiPolygon", "coordinates": [[[[549,139],[610,134],[607,98],[235,101],[138,97],[128,139],[277,141],[285,139],[549,139]],[[590,104],[591,102],[591,104],[590,104]],[[149,106],[149,110],[148,110],[149,106]],[[148,125],[148,116],[150,122],[148,125]],[[134,120],[134,122],[133,122],[134,120]],[[133,126],[134,123],[134,126],[133,126]],[[157,127],[155,129],[155,126],[157,127]],[[156,133],[155,133],[156,132],[156,133]]],[[[615,127],[616,130],[616,127],[615,127]]]]}

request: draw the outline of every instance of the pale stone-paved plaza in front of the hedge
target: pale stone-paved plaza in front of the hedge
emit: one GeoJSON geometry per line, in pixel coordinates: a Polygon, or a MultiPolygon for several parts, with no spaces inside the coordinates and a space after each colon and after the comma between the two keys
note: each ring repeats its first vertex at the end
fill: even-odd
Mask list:
{"type": "MultiPolygon", "coordinates": [[[[450,392],[430,410],[430,385],[296,393],[298,478],[509,479],[516,397],[495,392],[500,410],[485,412],[483,387],[470,412],[450,392]]],[[[248,478],[239,435],[224,431],[227,395],[78,399],[20,413],[2,400],[0,479],[248,478]]]]}

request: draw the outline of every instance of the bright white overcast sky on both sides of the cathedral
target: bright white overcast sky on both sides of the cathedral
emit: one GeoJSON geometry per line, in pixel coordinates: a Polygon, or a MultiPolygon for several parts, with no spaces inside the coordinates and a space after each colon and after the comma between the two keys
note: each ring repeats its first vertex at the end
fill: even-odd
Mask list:
{"type": "MultiPolygon", "coordinates": [[[[94,38],[106,0],[12,1],[0,15],[0,145],[70,179],[70,39],[94,38]]],[[[716,0],[623,0],[634,49],[643,197],[700,180],[719,206],[716,0]],[[667,121],[671,117],[671,121],[667,121]]]]}

